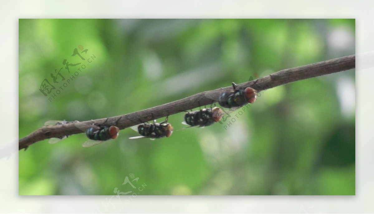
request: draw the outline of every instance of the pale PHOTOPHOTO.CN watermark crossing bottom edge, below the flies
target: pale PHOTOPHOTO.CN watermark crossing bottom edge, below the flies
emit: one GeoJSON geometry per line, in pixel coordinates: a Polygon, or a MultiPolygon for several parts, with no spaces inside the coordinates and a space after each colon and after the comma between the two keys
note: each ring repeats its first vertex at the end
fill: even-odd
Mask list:
{"type": "Polygon", "coordinates": [[[120,188],[115,187],[113,189],[115,195],[105,198],[105,202],[101,202],[102,208],[96,207],[93,213],[120,213],[137,195],[141,195],[141,192],[147,188],[147,184],[139,182],[139,177],[135,177],[132,173],[125,177],[122,185],[125,186],[120,188]],[[122,190],[124,191],[122,192],[122,190]],[[119,205],[118,202],[120,203],[119,205]]]}

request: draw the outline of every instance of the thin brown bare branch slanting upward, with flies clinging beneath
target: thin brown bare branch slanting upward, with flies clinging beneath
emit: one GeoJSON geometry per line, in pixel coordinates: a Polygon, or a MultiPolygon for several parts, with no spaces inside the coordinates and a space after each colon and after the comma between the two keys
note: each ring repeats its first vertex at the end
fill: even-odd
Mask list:
{"type": "MultiPolygon", "coordinates": [[[[318,77],[321,75],[331,74],[335,72],[345,71],[352,68],[355,68],[355,55],[345,56],[342,58],[332,59],[329,61],[318,62],[310,65],[300,66],[297,68],[290,68],[284,69],[282,71],[278,71],[274,74],[270,74],[266,77],[262,77],[260,79],[249,81],[246,83],[239,84],[238,86],[241,88],[245,87],[252,87],[253,89],[257,90],[258,92],[266,89],[270,89],[276,86],[292,83],[298,80],[305,80],[308,78],[318,77]]],[[[223,88],[224,90],[232,89],[230,83],[227,83],[228,87],[223,88]]],[[[209,92],[213,93],[214,96],[219,96],[222,92],[221,89],[215,89],[209,92]]],[[[110,117],[102,118],[93,120],[96,125],[112,125],[117,120],[117,127],[120,129],[124,129],[127,127],[131,127],[133,125],[137,125],[140,121],[150,121],[157,118],[166,117],[168,115],[177,114],[181,111],[188,111],[193,108],[197,108],[204,105],[210,105],[215,100],[208,98],[205,96],[206,92],[201,92],[180,100],[176,100],[174,102],[166,103],[160,106],[156,106],[153,108],[148,108],[142,111],[132,112],[129,114],[117,116],[117,117],[110,117]],[[106,121],[107,120],[107,121],[106,121]],[[106,122],[105,122],[106,121],[106,122]],[[105,124],[104,124],[105,122],[105,124]]],[[[214,98],[214,97],[213,97],[214,98]]],[[[85,121],[91,122],[91,121],[85,121]]],[[[19,140],[19,149],[26,149],[31,144],[38,142],[40,140],[45,140],[51,137],[62,137],[72,134],[79,134],[83,133],[82,130],[77,128],[74,123],[62,124],[62,125],[53,125],[53,126],[45,126],[41,127],[38,130],[34,131],[33,133],[29,134],[28,136],[19,140]]]]}

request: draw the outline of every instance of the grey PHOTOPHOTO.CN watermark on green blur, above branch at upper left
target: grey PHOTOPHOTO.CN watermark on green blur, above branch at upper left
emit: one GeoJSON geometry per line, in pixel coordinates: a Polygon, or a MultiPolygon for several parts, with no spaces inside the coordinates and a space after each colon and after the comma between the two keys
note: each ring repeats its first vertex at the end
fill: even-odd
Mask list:
{"type": "Polygon", "coordinates": [[[88,49],[84,49],[82,45],[79,45],[78,48],[79,50],[75,48],[73,55],[71,55],[74,59],[69,59],[70,62],[64,59],[62,61],[63,66],[55,69],[55,72],[50,73],[50,78],[45,78],[40,84],[39,90],[48,98],[49,102],[56,99],[90,63],[95,61],[96,56],[93,54],[89,55],[88,49]],[[75,63],[71,63],[72,61],[75,63]]]}

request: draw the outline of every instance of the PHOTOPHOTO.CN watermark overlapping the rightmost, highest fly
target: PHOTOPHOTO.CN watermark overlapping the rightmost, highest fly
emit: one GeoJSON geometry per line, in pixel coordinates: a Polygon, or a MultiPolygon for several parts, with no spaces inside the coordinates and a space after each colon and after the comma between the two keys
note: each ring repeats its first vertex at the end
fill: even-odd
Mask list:
{"type": "MultiPolygon", "coordinates": [[[[254,74],[254,76],[256,77],[256,78],[258,78],[258,74],[257,73],[255,73],[254,74]]],[[[253,79],[253,77],[251,76],[251,77],[249,77],[249,80],[248,81],[253,81],[254,79],[253,79]]],[[[256,86],[256,88],[261,88],[261,87],[259,87],[259,86],[257,86],[257,84],[256,84],[256,81],[254,82],[254,84],[252,85],[252,86],[256,86]]],[[[251,86],[251,87],[252,87],[251,86]]],[[[259,91],[259,92],[257,92],[257,95],[256,95],[256,100],[258,99],[258,97],[261,97],[261,95],[262,95],[262,93],[264,93],[267,89],[270,89],[270,88],[272,88],[272,86],[269,84],[269,83],[267,83],[264,87],[262,87],[262,89],[259,91]]],[[[239,118],[238,117],[238,115],[239,116],[241,116],[241,115],[243,115],[243,113],[251,106],[251,105],[253,105],[252,103],[247,103],[246,105],[243,105],[242,107],[240,107],[240,108],[237,108],[237,109],[235,109],[235,110],[233,110],[233,109],[224,109],[224,108],[222,108],[221,110],[223,111],[223,115],[221,115],[222,116],[222,118],[221,118],[221,120],[220,121],[218,121],[220,124],[225,124],[224,125],[224,128],[225,128],[225,130],[227,130],[227,128],[228,127],[230,127],[234,122],[236,122],[236,119],[237,118],[239,118]],[[240,109],[240,110],[239,110],[240,109]],[[234,115],[235,114],[235,115],[234,115]],[[231,118],[232,117],[232,118],[231,118]],[[231,118],[231,119],[230,119],[231,118]]]]}

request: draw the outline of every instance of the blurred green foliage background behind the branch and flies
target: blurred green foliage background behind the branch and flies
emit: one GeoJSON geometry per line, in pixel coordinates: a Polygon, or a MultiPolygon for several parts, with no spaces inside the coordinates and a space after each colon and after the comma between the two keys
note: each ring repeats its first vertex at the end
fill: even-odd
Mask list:
{"type": "MultiPolygon", "coordinates": [[[[20,19],[19,137],[352,54],[354,19],[20,19]],[[50,102],[40,84],[64,59],[81,64],[61,74],[79,74],[50,102]]],[[[175,130],[183,117],[169,117],[175,130]]],[[[35,143],[19,152],[19,194],[355,195],[355,71],[266,90],[230,126],[132,136],[35,143]]]]}

